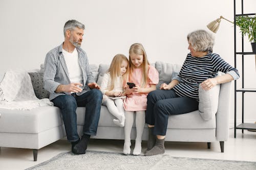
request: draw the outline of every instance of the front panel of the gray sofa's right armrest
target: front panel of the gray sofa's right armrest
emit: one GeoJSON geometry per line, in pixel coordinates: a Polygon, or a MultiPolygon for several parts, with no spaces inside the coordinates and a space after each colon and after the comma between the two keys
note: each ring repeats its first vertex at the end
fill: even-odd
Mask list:
{"type": "Polygon", "coordinates": [[[229,101],[231,82],[221,84],[218,110],[216,113],[216,139],[226,141],[229,131],[229,101]]]}

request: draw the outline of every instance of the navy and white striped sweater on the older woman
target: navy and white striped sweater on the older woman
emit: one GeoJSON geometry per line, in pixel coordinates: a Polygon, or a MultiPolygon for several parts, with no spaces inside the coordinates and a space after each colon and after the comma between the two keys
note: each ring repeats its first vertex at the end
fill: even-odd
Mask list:
{"type": "Polygon", "coordinates": [[[231,75],[234,80],[239,78],[238,70],[229,65],[218,54],[208,53],[204,57],[193,57],[189,53],[179,75],[174,78],[180,83],[173,89],[178,96],[188,96],[199,100],[199,84],[206,79],[216,77],[218,71],[231,75]]]}

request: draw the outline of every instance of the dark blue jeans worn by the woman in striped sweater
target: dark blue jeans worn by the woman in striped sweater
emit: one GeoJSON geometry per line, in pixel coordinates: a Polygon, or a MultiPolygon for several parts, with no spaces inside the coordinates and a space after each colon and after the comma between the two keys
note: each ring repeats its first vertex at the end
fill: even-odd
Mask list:
{"type": "Polygon", "coordinates": [[[147,95],[146,123],[155,125],[155,135],[166,135],[169,115],[198,110],[198,101],[179,97],[174,90],[155,90],[147,95]]]}

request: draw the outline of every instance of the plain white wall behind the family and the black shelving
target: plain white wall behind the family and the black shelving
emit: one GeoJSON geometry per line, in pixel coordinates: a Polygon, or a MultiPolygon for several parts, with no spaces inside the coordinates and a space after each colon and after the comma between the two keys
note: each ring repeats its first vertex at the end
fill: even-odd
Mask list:
{"type": "MultiPolygon", "coordinates": [[[[256,12],[255,0],[244,3],[245,13],[256,12]]],[[[240,12],[239,4],[237,6],[240,12]]],[[[110,63],[117,53],[128,55],[134,42],[144,45],[150,62],[182,64],[189,52],[186,35],[197,29],[207,30],[207,23],[220,15],[233,20],[233,0],[1,0],[0,72],[39,68],[46,53],[63,41],[63,25],[69,19],[86,25],[82,48],[91,64],[110,63]]],[[[214,52],[234,65],[232,24],[222,20],[215,36],[214,52]]],[[[251,50],[247,41],[245,47],[251,50]]],[[[245,86],[255,88],[255,59],[253,56],[245,58],[245,81],[250,82],[245,86]]],[[[241,71],[241,66],[238,69],[241,71]]],[[[240,95],[238,97],[240,99],[240,95]]],[[[255,93],[246,93],[245,119],[248,122],[256,120],[255,101],[255,93]]],[[[230,106],[232,122],[233,86],[230,106]]],[[[240,103],[238,109],[241,110],[240,103]]]]}

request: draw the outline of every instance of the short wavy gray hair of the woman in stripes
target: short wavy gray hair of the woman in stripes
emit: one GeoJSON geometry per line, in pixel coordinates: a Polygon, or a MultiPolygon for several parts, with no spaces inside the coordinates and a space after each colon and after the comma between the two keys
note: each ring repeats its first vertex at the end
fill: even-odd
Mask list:
{"type": "Polygon", "coordinates": [[[197,30],[187,35],[187,40],[197,52],[211,52],[214,47],[214,37],[205,30],[197,30]]]}

